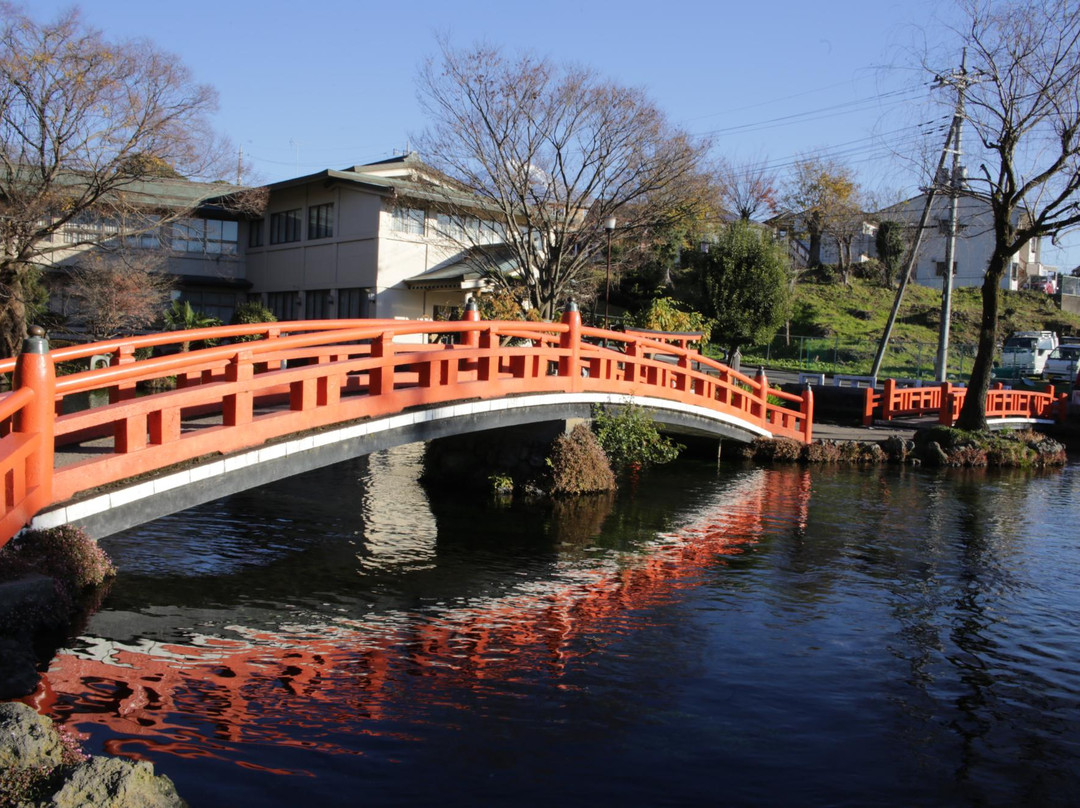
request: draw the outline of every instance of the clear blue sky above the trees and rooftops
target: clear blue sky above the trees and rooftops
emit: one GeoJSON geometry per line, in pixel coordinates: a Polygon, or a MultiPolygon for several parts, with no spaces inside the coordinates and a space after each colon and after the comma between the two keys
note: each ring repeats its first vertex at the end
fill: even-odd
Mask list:
{"type": "MultiPolygon", "coordinates": [[[[26,8],[42,19],[71,5],[26,8]]],[[[822,153],[886,201],[917,192],[912,158],[927,137],[934,150],[944,138],[919,126],[945,113],[929,106],[943,91],[931,91],[916,56],[944,36],[950,6],[940,0],[87,0],[80,8],[110,38],[147,38],[217,89],[218,130],[255,172],[245,181],[401,153],[424,124],[416,77],[437,52],[437,36],[589,65],[645,90],[674,123],[711,134],[718,156],[765,159],[782,174],[794,159],[822,153]]],[[[1043,260],[1076,266],[1080,250],[1043,260]]]]}

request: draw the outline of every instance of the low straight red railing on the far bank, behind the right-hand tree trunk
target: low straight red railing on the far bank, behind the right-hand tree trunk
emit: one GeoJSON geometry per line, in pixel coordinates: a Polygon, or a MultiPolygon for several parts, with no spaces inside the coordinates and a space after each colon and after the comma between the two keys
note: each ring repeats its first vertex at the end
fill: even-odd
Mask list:
{"type": "MultiPolygon", "coordinates": [[[[882,390],[866,390],[863,423],[870,426],[876,420],[936,414],[939,423],[951,427],[960,416],[967,394],[967,388],[948,382],[934,387],[900,387],[895,379],[886,379],[882,390]]],[[[1053,387],[1036,392],[1007,390],[998,383],[986,394],[986,417],[989,419],[1064,421],[1067,415],[1068,395],[1055,393],[1053,387]]]]}

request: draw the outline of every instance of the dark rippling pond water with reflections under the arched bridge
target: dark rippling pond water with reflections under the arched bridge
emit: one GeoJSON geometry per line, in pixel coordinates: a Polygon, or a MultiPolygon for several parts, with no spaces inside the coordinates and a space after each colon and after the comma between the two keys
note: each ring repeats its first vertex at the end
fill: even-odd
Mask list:
{"type": "Polygon", "coordinates": [[[103,541],[39,704],[197,808],[1080,804],[1080,467],[680,461],[553,512],[419,458],[103,541]]]}

